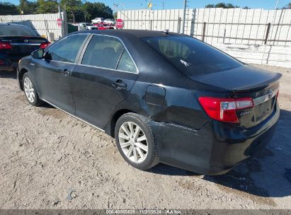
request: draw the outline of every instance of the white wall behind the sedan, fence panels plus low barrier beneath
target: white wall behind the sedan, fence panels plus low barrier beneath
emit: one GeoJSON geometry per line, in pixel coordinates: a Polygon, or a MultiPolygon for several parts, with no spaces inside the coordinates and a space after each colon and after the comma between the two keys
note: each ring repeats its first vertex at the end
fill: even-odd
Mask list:
{"type": "MultiPolygon", "coordinates": [[[[181,33],[183,10],[118,11],[118,18],[125,29],[181,33]]],[[[185,33],[202,40],[203,31],[205,42],[242,62],[291,68],[290,9],[187,9],[185,33]]]]}

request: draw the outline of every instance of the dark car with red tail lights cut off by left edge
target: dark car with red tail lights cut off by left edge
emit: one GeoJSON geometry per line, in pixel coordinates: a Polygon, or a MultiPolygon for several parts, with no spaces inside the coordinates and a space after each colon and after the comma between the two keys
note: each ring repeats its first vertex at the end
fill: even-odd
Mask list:
{"type": "Polygon", "coordinates": [[[50,42],[25,25],[0,23],[0,70],[16,69],[19,59],[50,42]]]}

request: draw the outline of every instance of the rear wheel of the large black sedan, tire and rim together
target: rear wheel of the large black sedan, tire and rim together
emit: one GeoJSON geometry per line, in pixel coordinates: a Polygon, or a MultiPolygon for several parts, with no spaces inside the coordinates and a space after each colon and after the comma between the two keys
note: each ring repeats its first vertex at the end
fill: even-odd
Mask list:
{"type": "Polygon", "coordinates": [[[147,170],[159,163],[159,145],[154,139],[152,128],[148,122],[149,120],[141,115],[127,113],[122,115],[115,124],[115,141],[118,151],[127,163],[139,170],[147,170]],[[128,123],[132,125],[132,129],[128,123]],[[140,131],[137,129],[138,127],[140,131]],[[130,135],[127,135],[124,128],[127,128],[130,135],[133,134],[132,139],[125,139],[130,135]],[[136,132],[138,134],[135,135],[136,132]],[[145,140],[142,134],[144,134],[145,140]],[[129,143],[130,145],[128,145],[129,143]],[[132,152],[130,152],[130,147],[132,152]],[[145,158],[142,158],[142,154],[145,158]]]}

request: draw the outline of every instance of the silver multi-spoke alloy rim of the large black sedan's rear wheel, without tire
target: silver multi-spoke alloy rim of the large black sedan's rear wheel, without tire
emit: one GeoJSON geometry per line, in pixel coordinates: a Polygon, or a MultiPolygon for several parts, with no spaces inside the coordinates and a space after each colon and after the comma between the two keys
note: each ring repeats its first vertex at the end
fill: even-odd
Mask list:
{"type": "Polygon", "coordinates": [[[120,148],[134,163],[142,163],[147,158],[147,137],[135,122],[124,122],[118,131],[120,148]]]}

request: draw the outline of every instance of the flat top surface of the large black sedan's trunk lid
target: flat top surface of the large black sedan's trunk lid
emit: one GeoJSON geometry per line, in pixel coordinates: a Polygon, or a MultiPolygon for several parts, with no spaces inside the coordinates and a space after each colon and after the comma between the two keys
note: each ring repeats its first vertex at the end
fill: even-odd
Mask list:
{"type": "Polygon", "coordinates": [[[278,81],[282,74],[258,69],[253,66],[240,66],[227,71],[189,76],[190,79],[229,91],[244,91],[266,86],[278,81]]]}

